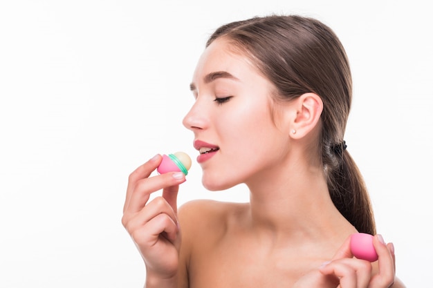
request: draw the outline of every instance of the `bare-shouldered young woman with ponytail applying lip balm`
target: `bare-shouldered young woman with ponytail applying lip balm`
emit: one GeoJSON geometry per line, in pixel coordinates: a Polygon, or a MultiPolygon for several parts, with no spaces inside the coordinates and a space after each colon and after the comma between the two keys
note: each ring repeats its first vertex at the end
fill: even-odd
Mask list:
{"type": "Polygon", "coordinates": [[[149,177],[160,155],[133,171],[122,223],[145,261],[146,287],[403,287],[380,235],[376,262],[349,248],[351,234],[376,229],[344,143],[349,64],[328,27],[276,15],[222,26],[191,90],[183,124],[203,185],[245,183],[250,202],[196,200],[178,211],[183,173],[149,177]]]}

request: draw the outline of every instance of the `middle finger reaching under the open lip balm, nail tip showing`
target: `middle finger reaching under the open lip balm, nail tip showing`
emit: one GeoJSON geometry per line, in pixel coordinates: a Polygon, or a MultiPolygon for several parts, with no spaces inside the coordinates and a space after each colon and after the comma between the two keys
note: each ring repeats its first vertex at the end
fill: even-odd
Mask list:
{"type": "MultiPolygon", "coordinates": [[[[180,174],[183,175],[183,173],[180,174]]],[[[178,186],[183,182],[185,182],[185,175],[178,177],[178,173],[165,173],[139,180],[133,189],[133,193],[131,193],[127,211],[129,213],[137,213],[145,207],[151,193],[166,187],[178,186]]]]}

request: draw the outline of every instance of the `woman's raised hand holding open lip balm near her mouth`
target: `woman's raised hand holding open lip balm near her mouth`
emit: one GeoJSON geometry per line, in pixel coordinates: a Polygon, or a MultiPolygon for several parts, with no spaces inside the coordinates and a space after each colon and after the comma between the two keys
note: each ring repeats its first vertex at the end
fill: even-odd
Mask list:
{"type": "Polygon", "coordinates": [[[178,185],[185,175],[165,173],[149,177],[160,164],[156,155],[129,175],[122,224],[145,261],[147,280],[167,281],[176,276],[181,245],[177,219],[178,185]],[[163,196],[149,203],[150,194],[163,189],[163,196]]]}

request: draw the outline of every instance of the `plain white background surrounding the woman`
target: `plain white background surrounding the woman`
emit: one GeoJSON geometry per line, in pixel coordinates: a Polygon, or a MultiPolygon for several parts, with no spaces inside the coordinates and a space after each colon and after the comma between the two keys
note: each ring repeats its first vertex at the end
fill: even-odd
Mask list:
{"type": "MultiPolygon", "coordinates": [[[[348,151],[365,176],[398,276],[432,272],[432,27],[427,1],[0,2],[0,287],[142,287],[120,219],[127,177],[156,153],[196,157],[181,119],[208,35],[295,13],[335,30],[354,101],[348,151]],[[207,3],[208,2],[208,3],[207,3]]],[[[179,202],[209,192],[194,161],[179,202]]]]}

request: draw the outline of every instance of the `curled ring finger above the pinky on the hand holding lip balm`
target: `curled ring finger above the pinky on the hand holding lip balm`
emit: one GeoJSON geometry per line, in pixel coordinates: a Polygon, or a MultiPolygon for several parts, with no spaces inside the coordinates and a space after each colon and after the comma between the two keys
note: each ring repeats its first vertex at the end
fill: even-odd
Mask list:
{"type": "Polygon", "coordinates": [[[159,214],[167,214],[172,218],[173,222],[178,222],[176,214],[167,201],[163,197],[157,197],[151,200],[140,212],[133,214],[132,217],[127,220],[125,228],[131,233],[145,226],[147,222],[151,221],[152,218],[155,218],[159,214]]]}

